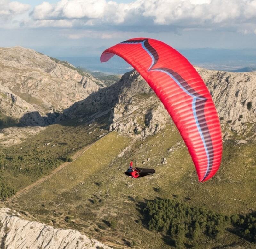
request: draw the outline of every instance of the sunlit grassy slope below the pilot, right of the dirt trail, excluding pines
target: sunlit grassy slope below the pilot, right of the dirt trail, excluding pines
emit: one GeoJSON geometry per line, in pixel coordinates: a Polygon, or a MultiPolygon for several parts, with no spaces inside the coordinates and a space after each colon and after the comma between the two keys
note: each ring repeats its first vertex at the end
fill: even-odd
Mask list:
{"type": "MultiPolygon", "coordinates": [[[[224,214],[255,209],[255,144],[226,143],[217,175],[199,183],[188,151],[172,125],[143,144],[134,143],[130,151],[117,157],[128,143],[117,133],[109,134],[67,169],[10,206],[57,227],[74,228],[101,241],[137,248],[169,247],[161,234],[147,230],[140,221],[141,203],[155,197],[178,198],[224,214]],[[167,151],[170,147],[172,152],[167,151]],[[137,158],[137,166],[154,167],[156,173],[140,179],[125,177],[131,157],[137,158]],[[161,164],[163,157],[168,159],[167,165],[161,164]]],[[[201,248],[232,243],[253,248],[229,232],[224,240],[203,240],[201,248]]]]}

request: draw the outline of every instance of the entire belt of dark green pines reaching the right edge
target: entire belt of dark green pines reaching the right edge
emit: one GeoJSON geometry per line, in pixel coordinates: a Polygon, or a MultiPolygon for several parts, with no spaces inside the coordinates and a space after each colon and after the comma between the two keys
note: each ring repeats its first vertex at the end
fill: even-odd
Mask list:
{"type": "Polygon", "coordinates": [[[256,214],[222,215],[205,207],[170,199],[148,201],[144,208],[150,230],[166,234],[178,248],[198,246],[204,235],[219,240],[227,236],[226,230],[256,242],[256,214]]]}

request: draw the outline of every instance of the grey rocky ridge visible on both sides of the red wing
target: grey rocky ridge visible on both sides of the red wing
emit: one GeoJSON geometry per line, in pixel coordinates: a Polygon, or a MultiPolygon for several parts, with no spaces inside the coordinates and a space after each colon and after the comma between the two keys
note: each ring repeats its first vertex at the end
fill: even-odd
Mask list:
{"type": "MultiPolygon", "coordinates": [[[[224,138],[256,134],[256,72],[234,73],[197,68],[215,102],[224,138]]],[[[152,89],[136,71],[66,109],[65,118],[90,119],[109,113],[109,130],[148,136],[171,122],[169,114],[152,89]]]]}

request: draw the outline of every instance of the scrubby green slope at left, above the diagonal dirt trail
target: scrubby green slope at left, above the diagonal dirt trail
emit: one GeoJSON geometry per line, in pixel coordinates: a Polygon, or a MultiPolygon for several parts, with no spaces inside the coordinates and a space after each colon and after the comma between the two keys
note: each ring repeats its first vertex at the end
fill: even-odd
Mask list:
{"type": "Polygon", "coordinates": [[[1,162],[0,181],[16,191],[24,188],[50,173],[75,151],[99,139],[100,134],[107,132],[105,126],[75,121],[54,124],[21,144],[1,147],[5,160],[1,162]]]}

